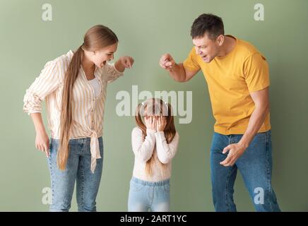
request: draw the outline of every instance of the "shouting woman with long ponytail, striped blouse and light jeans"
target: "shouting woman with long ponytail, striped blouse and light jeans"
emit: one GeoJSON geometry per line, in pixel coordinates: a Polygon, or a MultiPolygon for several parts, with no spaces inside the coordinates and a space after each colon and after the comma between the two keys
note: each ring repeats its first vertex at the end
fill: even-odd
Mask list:
{"type": "Polygon", "coordinates": [[[47,62],[25,94],[23,110],[35,125],[35,147],[48,157],[51,211],[69,210],[75,181],[78,210],[96,211],[107,83],[134,64],[131,57],[107,63],[114,58],[117,43],[112,30],[95,25],[76,52],[70,50],[47,62]],[[42,100],[46,101],[50,146],[40,113],[42,100]]]}

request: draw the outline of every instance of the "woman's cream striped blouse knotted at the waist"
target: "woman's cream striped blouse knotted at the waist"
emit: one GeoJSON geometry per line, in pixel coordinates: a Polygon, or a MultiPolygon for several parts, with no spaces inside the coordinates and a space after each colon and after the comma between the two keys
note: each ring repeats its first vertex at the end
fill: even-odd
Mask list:
{"type": "MultiPolygon", "coordinates": [[[[31,114],[42,112],[41,102],[45,100],[48,127],[52,138],[60,137],[61,97],[64,87],[64,75],[73,57],[67,54],[45,64],[40,76],[26,90],[23,99],[23,111],[31,114]]],[[[88,82],[83,67],[79,71],[73,86],[72,124],[70,138],[90,137],[91,171],[94,172],[96,159],[100,158],[98,138],[102,136],[107,83],[116,80],[123,73],[117,71],[113,64],[105,64],[102,69],[96,67],[95,78],[100,83],[101,91],[95,97],[95,90],[88,82]]]]}

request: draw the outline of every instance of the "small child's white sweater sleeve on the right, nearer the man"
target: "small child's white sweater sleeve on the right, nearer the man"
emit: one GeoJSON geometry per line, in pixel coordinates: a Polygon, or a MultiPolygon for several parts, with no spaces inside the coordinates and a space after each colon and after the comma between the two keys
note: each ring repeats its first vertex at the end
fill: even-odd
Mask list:
{"type": "Polygon", "coordinates": [[[155,133],[156,150],[158,152],[158,160],[163,164],[167,164],[177,153],[177,145],[179,144],[179,133],[175,133],[171,143],[167,143],[165,133],[163,131],[155,133]]]}

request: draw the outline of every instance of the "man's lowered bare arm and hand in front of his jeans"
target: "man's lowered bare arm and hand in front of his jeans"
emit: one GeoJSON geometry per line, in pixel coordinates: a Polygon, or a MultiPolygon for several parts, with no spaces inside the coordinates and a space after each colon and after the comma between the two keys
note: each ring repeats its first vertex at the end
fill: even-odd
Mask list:
{"type": "Polygon", "coordinates": [[[247,129],[239,143],[227,145],[227,147],[223,149],[224,154],[229,151],[226,159],[223,160],[223,162],[220,162],[220,164],[225,167],[234,165],[236,160],[244,153],[248,148],[249,143],[259,131],[269,112],[268,88],[250,93],[250,95],[256,107],[254,108],[254,112],[251,114],[247,129]]]}

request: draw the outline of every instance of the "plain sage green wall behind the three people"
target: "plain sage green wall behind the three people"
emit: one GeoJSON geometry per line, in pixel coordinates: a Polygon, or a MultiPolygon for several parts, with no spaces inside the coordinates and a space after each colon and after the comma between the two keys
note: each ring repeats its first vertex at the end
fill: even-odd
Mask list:
{"type": "MultiPolygon", "coordinates": [[[[76,49],[93,25],[112,28],[119,37],[116,59],[134,57],[134,68],[111,83],[105,105],[105,159],[97,210],[126,211],[134,165],[131,129],[134,117],[118,117],[118,91],[193,91],[193,119],[179,124],[179,150],[173,161],[171,210],[213,211],[209,148],[213,116],[203,74],[177,83],[160,69],[161,54],[183,61],[192,47],[189,30],[201,13],[215,13],[225,32],[254,44],[271,70],[273,187],[282,210],[308,210],[308,1],[237,0],[0,0],[1,155],[0,210],[47,211],[42,189],[49,187],[45,155],[35,149],[35,129],[23,113],[25,90],[45,63],[76,49]],[[52,5],[52,21],[42,20],[42,5],[52,5]],[[265,20],[254,20],[261,3],[265,20]]],[[[45,112],[44,112],[45,113],[45,112]]],[[[46,121],[46,116],[44,114],[46,121]]],[[[239,211],[254,211],[242,177],[237,176],[239,211]]],[[[76,211],[73,196],[71,210],[76,211]]]]}

